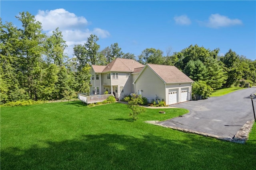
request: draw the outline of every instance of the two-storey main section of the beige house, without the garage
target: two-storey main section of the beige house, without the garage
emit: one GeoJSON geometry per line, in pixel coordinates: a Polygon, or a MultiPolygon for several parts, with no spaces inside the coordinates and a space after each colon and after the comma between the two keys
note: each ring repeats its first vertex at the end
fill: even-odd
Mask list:
{"type": "Polygon", "coordinates": [[[92,65],[90,74],[90,95],[104,94],[108,91],[115,98],[121,100],[124,95],[134,93],[135,79],[139,68],[144,65],[132,59],[117,58],[106,66],[92,65]]]}

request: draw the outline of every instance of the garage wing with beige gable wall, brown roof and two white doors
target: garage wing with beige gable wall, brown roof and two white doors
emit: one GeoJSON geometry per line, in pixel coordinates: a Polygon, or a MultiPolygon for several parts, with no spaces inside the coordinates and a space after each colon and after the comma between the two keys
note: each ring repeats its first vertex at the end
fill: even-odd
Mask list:
{"type": "Polygon", "coordinates": [[[170,105],[191,100],[192,82],[175,66],[146,64],[133,84],[148,100],[164,100],[170,105]]]}

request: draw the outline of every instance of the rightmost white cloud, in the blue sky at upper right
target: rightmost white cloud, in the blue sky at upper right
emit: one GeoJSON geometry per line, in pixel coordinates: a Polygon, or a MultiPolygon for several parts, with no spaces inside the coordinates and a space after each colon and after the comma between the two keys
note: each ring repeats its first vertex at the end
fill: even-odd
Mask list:
{"type": "Polygon", "coordinates": [[[212,14],[205,25],[211,28],[219,28],[233,25],[242,25],[242,21],[238,19],[230,19],[227,16],[222,16],[220,14],[212,14]]]}

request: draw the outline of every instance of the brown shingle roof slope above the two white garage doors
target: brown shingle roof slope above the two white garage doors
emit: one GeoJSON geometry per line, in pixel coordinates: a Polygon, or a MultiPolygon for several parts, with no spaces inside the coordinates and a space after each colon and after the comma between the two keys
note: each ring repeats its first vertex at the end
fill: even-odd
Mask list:
{"type": "Polygon", "coordinates": [[[194,82],[175,66],[166,66],[158,64],[147,64],[164,82],[194,82]]]}

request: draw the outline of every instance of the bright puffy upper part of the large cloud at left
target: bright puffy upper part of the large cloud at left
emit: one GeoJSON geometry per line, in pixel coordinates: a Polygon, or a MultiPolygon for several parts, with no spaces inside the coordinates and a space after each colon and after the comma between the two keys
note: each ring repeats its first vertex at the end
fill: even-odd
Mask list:
{"type": "Polygon", "coordinates": [[[88,21],[84,17],[78,17],[74,13],[70,13],[62,8],[56,10],[39,10],[35,16],[37,21],[42,23],[44,31],[60,29],[76,28],[85,26],[88,21]]]}

